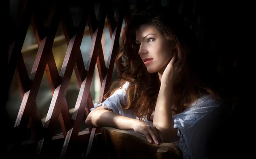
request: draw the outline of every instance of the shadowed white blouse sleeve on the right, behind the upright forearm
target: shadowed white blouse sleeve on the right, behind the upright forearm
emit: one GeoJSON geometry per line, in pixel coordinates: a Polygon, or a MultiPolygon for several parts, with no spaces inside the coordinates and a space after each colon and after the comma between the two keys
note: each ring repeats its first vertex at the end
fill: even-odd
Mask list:
{"type": "Polygon", "coordinates": [[[173,116],[177,136],[180,137],[176,144],[183,151],[184,159],[201,159],[206,156],[207,134],[215,126],[219,106],[220,102],[206,96],[173,116]]]}

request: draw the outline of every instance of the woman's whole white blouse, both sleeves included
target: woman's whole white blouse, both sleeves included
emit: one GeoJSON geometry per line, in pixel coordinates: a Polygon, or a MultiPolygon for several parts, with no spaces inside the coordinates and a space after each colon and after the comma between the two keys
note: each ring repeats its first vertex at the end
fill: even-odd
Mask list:
{"type": "MultiPolygon", "coordinates": [[[[139,119],[133,110],[123,110],[120,102],[126,102],[126,90],[129,82],[126,82],[119,90],[116,90],[104,102],[94,104],[94,108],[102,106],[105,109],[111,109],[114,113],[133,119],[139,119]]],[[[201,96],[197,101],[190,104],[182,113],[173,116],[174,127],[177,128],[177,136],[180,140],[175,144],[183,152],[183,159],[206,159],[207,158],[207,134],[215,127],[219,116],[221,103],[210,97],[210,95],[201,96]]],[[[154,116],[154,113],[151,117],[154,116]]],[[[153,119],[153,118],[151,118],[153,119]]],[[[152,121],[143,117],[142,121],[153,125],[152,121]]]]}

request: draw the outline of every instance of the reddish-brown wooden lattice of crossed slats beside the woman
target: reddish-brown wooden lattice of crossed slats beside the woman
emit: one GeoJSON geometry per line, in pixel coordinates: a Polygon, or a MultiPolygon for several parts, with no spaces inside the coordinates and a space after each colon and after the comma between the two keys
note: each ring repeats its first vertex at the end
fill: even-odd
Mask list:
{"type": "MultiPolygon", "coordinates": [[[[84,0],[85,1],[85,0],[84,0]]],[[[40,8],[37,0],[23,0],[20,3],[20,14],[17,27],[17,35],[9,44],[8,57],[8,78],[7,89],[11,85],[12,77],[15,75],[20,90],[22,103],[15,121],[13,129],[8,130],[11,141],[8,141],[8,151],[10,156],[16,156],[21,146],[21,142],[26,135],[26,127],[29,124],[32,129],[35,145],[35,158],[49,158],[49,145],[55,134],[55,127],[58,120],[61,123],[64,143],[59,154],[60,158],[67,156],[67,152],[72,143],[79,140],[89,142],[90,130],[79,135],[79,128],[84,113],[86,116],[93,107],[90,95],[90,85],[93,78],[95,65],[99,70],[99,77],[102,84],[99,102],[102,102],[103,95],[108,91],[109,84],[114,68],[116,53],[119,48],[119,37],[123,20],[130,17],[134,12],[140,12],[148,5],[159,5],[160,1],[137,0],[134,9],[131,12],[128,0],[120,0],[117,18],[114,17],[114,11],[110,0],[103,0],[99,9],[99,16],[96,17],[93,3],[89,1],[78,3],[79,23],[73,23],[71,18],[69,3],[61,0],[52,0],[48,8],[40,8]],[[42,11],[44,14],[42,14],[42,11]],[[105,64],[102,50],[102,32],[105,18],[107,17],[109,32],[111,36],[111,45],[108,54],[108,61],[105,64]],[[29,73],[21,54],[21,49],[26,36],[26,32],[32,24],[35,37],[38,44],[38,52],[32,68],[29,73]],[[60,73],[55,63],[52,53],[52,45],[56,35],[59,23],[61,23],[67,41],[67,52],[60,73]],[[80,45],[84,34],[84,28],[88,25],[92,40],[90,55],[87,64],[84,67],[81,55],[80,45]],[[77,97],[74,113],[70,116],[66,93],[73,70],[79,84],[79,95],[77,97]],[[52,101],[47,113],[45,123],[42,124],[35,99],[38,94],[39,86],[43,78],[44,71],[52,91],[52,101]]],[[[177,2],[173,3],[174,7],[177,2]]],[[[180,4],[180,3],[179,3],[180,4]]],[[[8,92],[6,90],[6,92],[8,92]]],[[[95,133],[92,131],[91,135],[95,133]]],[[[86,148],[86,147],[85,147],[86,148]]],[[[32,149],[34,150],[34,149],[32,149]]],[[[86,150],[84,150],[86,152],[86,150]]]]}

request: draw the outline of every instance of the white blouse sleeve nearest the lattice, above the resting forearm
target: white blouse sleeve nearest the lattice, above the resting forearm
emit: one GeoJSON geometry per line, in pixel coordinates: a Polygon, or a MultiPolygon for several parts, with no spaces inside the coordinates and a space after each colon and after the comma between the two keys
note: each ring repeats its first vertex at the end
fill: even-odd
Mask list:
{"type": "Polygon", "coordinates": [[[90,110],[94,110],[97,107],[102,106],[104,109],[111,109],[114,113],[120,114],[122,116],[130,116],[130,110],[123,110],[121,103],[126,102],[126,90],[129,86],[129,82],[126,82],[120,89],[116,90],[113,95],[108,97],[102,103],[95,103],[93,104],[93,108],[90,110]]]}

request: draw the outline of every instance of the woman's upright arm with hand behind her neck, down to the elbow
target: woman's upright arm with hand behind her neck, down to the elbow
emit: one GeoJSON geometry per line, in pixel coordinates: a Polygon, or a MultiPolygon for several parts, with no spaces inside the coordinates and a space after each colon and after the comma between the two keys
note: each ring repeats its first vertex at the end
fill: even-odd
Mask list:
{"type": "Polygon", "coordinates": [[[182,66],[179,60],[175,61],[173,57],[160,76],[161,86],[154,110],[153,125],[161,131],[164,142],[175,142],[179,139],[172,118],[172,96],[173,86],[180,77],[182,66]]]}

